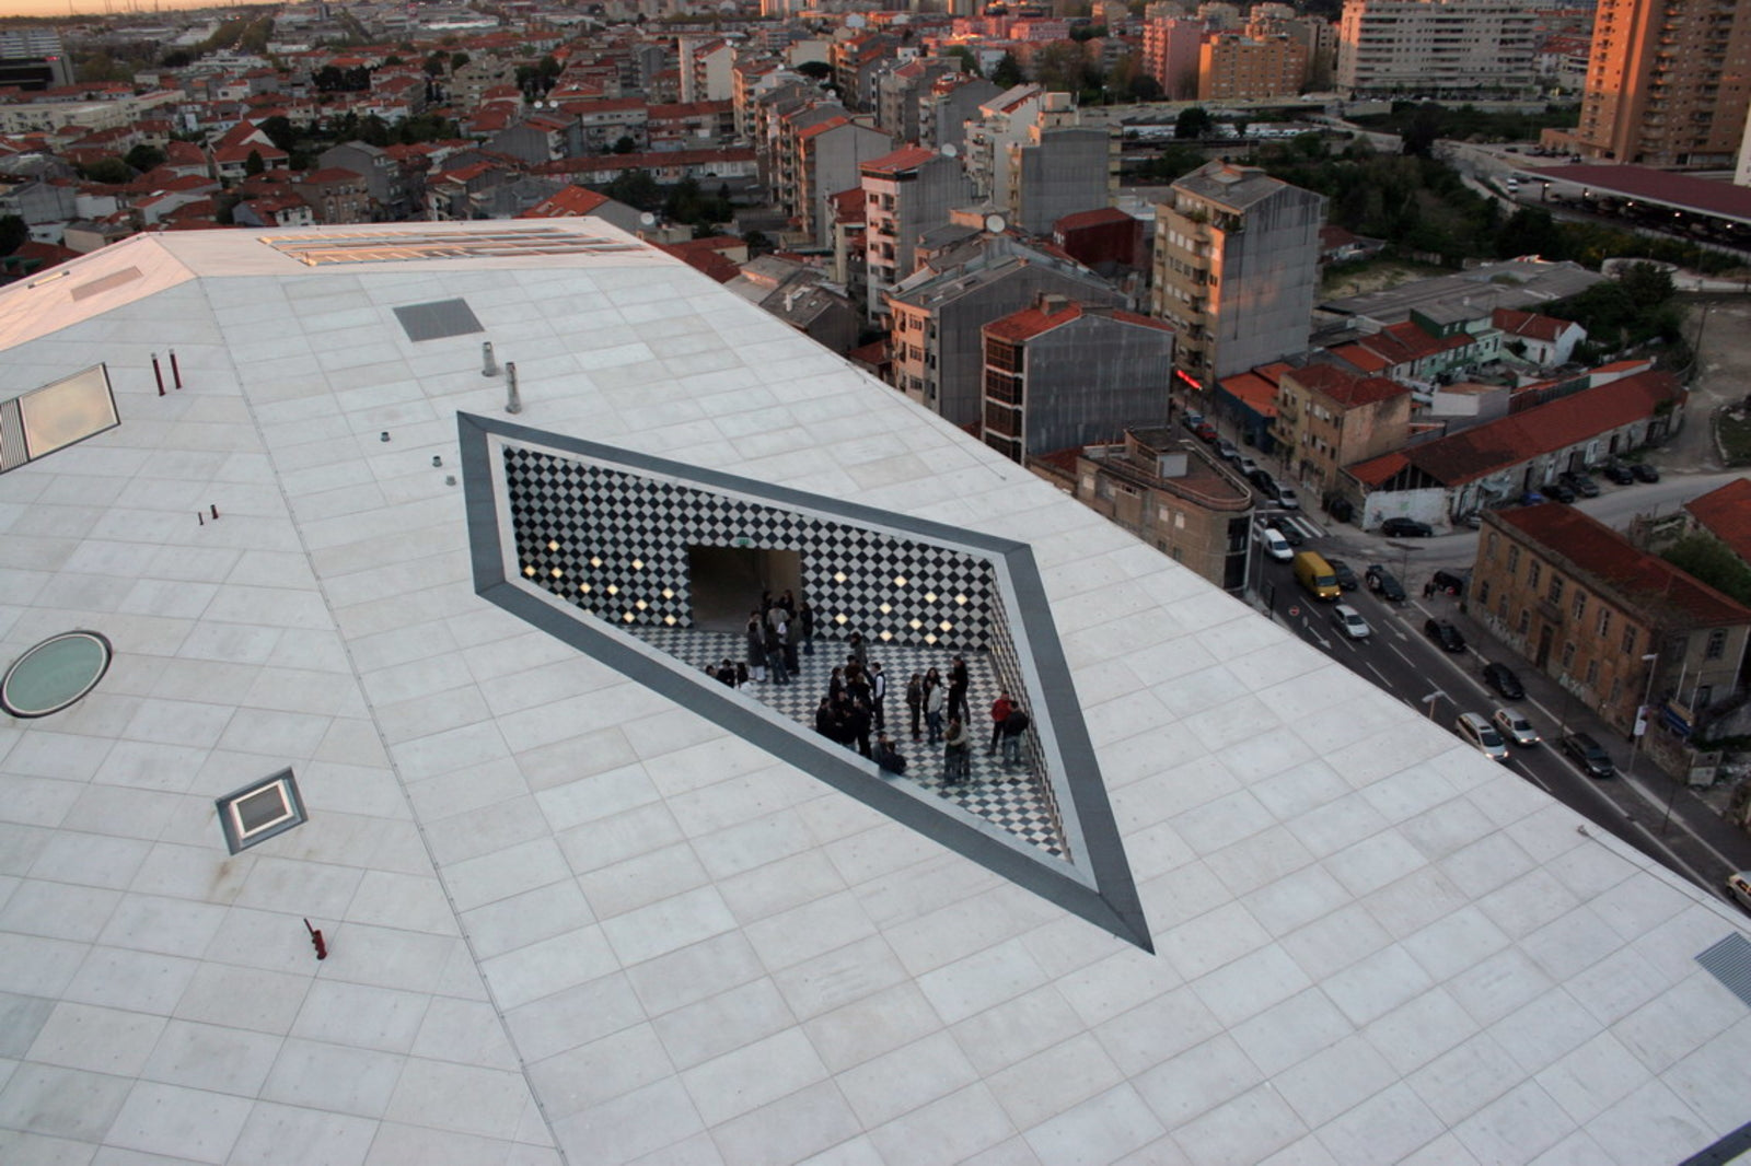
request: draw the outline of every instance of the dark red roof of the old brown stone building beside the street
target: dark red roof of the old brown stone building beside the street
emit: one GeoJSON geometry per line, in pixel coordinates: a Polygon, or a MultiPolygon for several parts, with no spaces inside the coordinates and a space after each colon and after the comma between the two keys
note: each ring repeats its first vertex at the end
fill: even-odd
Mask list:
{"type": "Polygon", "coordinates": [[[1684,618],[1690,627],[1751,623],[1751,608],[1679,571],[1658,555],[1564,502],[1494,511],[1490,522],[1520,530],[1532,543],[1567,558],[1595,585],[1613,590],[1653,615],[1684,618]]]}

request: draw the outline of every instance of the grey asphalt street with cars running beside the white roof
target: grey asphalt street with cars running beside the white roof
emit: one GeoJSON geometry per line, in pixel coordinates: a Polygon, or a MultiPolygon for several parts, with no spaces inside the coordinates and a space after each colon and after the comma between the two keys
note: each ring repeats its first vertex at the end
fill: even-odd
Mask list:
{"type": "MultiPolygon", "coordinates": [[[[1306,516],[1297,516],[1294,522],[1303,525],[1306,534],[1320,530],[1306,516]]],[[[1439,541],[1446,539],[1418,539],[1415,543],[1427,546],[1439,541]]],[[[1345,553],[1333,546],[1329,537],[1310,537],[1308,546],[1343,558],[1357,578],[1364,574],[1369,562],[1382,562],[1382,558],[1345,553]]],[[[1406,557],[1413,557],[1420,550],[1424,548],[1410,550],[1406,546],[1406,557]]],[[[1469,553],[1464,558],[1469,565],[1469,553]]],[[[1399,574],[1397,560],[1385,558],[1383,565],[1399,574]]],[[[1432,560],[1413,565],[1411,579],[1399,576],[1408,592],[1404,602],[1387,602],[1371,594],[1366,583],[1354,592],[1345,592],[1343,602],[1355,608],[1373,629],[1373,634],[1361,641],[1354,641],[1340,630],[1333,615],[1334,604],[1313,601],[1296,583],[1289,564],[1275,562],[1261,553],[1255,583],[1259,602],[1269,606],[1278,623],[1292,629],[1304,641],[1392,697],[1431,716],[1434,723],[1452,730],[1460,713],[1490,716],[1509,702],[1483,685],[1481,671],[1490,658],[1483,653],[1490,651],[1490,644],[1478,637],[1476,625],[1459,615],[1457,601],[1445,595],[1422,597],[1422,581],[1431,569],[1432,560]],[[1459,625],[1469,641],[1466,651],[1439,650],[1424,632],[1424,623],[1431,616],[1459,625]],[[1478,650],[1480,644],[1483,653],[1478,650]]],[[[1646,758],[1641,758],[1625,777],[1630,751],[1621,737],[1602,732],[1572,699],[1553,685],[1543,683],[1543,678],[1532,676],[1532,669],[1522,665],[1513,655],[1497,653],[1494,658],[1515,667],[1515,672],[1525,681],[1527,699],[1513,702],[1511,707],[1516,707],[1543,737],[1543,744],[1513,748],[1509,758],[1501,765],[1712,895],[1721,895],[1721,882],[1730,872],[1751,868],[1751,839],[1728,828],[1705,804],[1655,772],[1646,758]],[[1585,727],[1593,734],[1613,755],[1620,777],[1604,781],[1586,777],[1557,748],[1562,732],[1572,727],[1585,727]],[[1665,795],[1676,795],[1670,800],[1670,814],[1662,800],[1665,795]]]]}

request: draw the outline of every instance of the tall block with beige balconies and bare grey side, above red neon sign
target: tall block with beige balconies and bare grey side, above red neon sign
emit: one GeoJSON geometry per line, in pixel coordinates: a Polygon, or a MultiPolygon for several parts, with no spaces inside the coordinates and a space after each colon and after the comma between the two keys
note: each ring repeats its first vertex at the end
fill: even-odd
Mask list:
{"type": "Polygon", "coordinates": [[[1213,161],[1156,207],[1154,315],[1199,385],[1308,347],[1326,200],[1257,166],[1213,161]]]}

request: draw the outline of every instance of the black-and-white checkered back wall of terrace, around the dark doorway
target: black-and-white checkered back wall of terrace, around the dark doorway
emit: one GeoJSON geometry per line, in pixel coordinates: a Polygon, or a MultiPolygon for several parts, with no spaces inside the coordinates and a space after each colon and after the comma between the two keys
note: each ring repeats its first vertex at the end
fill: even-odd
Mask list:
{"type": "Polygon", "coordinates": [[[690,627],[688,548],[748,546],[800,553],[823,637],[982,650],[1003,630],[977,555],[546,450],[506,445],[504,476],[518,569],[602,620],[690,627]]]}

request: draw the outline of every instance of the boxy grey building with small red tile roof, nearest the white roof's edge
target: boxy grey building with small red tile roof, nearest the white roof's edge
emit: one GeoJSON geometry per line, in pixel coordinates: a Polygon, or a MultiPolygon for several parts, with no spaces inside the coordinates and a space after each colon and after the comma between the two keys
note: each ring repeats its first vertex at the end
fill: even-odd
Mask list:
{"type": "Polygon", "coordinates": [[[1012,462],[1168,417],[1173,329],[1161,320],[1040,296],[982,331],[984,443],[1012,462]]]}

